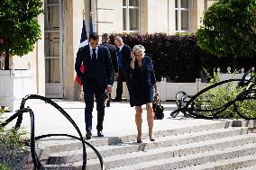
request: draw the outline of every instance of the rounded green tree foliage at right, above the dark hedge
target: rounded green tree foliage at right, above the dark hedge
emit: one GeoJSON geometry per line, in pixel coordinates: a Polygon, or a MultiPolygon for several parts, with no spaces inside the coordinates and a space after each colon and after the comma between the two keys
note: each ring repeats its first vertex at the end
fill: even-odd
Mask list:
{"type": "Polygon", "coordinates": [[[197,31],[202,49],[218,57],[251,57],[256,53],[256,0],[218,0],[197,31]]]}

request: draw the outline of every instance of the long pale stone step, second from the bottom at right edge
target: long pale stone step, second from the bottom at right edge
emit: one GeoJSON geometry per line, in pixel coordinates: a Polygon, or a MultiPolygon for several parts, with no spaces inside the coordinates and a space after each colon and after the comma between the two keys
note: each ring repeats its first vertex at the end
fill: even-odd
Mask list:
{"type": "MultiPolygon", "coordinates": [[[[245,157],[256,153],[256,143],[237,146],[235,148],[222,148],[204,153],[191,154],[183,157],[164,158],[133,166],[120,166],[111,170],[170,170],[187,166],[201,165],[235,157],[245,157]]],[[[253,156],[255,157],[255,156],[253,156]]],[[[90,167],[90,166],[88,166],[90,167]]],[[[87,168],[88,170],[90,168],[87,168]]],[[[96,169],[95,169],[96,170],[96,169]]],[[[192,168],[191,168],[192,170],[192,168]]]]}

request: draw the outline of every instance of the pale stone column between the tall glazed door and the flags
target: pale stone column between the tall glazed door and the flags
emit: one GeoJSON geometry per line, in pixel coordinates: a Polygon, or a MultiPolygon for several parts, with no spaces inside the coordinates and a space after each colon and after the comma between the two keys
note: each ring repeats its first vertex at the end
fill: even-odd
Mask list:
{"type": "MultiPolygon", "coordinates": [[[[64,16],[64,98],[78,100],[81,87],[76,82],[75,61],[82,31],[84,0],[66,0],[64,16]]],[[[88,7],[88,6],[87,6],[88,7]]],[[[88,27],[88,26],[87,26],[88,27]]]]}

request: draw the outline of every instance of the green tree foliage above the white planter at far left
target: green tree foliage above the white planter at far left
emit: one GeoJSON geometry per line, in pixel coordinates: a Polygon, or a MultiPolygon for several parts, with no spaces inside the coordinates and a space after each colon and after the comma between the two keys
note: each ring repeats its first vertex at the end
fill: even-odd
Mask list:
{"type": "Polygon", "coordinates": [[[0,54],[22,57],[41,39],[37,17],[42,13],[41,0],[1,0],[0,54]]]}

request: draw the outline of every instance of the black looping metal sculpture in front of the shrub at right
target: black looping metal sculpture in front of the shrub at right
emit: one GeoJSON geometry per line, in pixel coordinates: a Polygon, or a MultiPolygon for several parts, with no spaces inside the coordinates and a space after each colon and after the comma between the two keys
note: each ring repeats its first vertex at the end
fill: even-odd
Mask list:
{"type": "MultiPolygon", "coordinates": [[[[231,82],[244,82],[244,80],[241,79],[229,79],[224,80],[222,82],[216,83],[214,85],[209,85],[205,89],[201,90],[195,95],[188,95],[185,92],[178,92],[176,94],[176,104],[178,106],[178,109],[176,111],[173,111],[170,113],[170,116],[175,118],[179,112],[182,112],[185,116],[189,116],[192,118],[198,118],[198,119],[219,119],[221,116],[219,114],[221,112],[224,112],[227,108],[233,105],[233,110],[243,119],[246,120],[256,120],[256,117],[248,117],[244,115],[242,112],[239,111],[239,105],[238,102],[243,102],[246,100],[256,100],[256,76],[252,75],[251,78],[246,81],[246,88],[238,95],[235,96],[233,101],[230,101],[228,103],[224,103],[221,107],[215,108],[215,109],[205,109],[201,106],[197,105],[197,99],[206,94],[209,90],[215,88],[219,85],[228,84],[231,82]],[[210,114],[204,114],[204,112],[207,112],[210,114]]],[[[238,84],[241,85],[241,84],[238,84]]],[[[208,96],[208,100],[210,100],[211,97],[214,96],[208,96]]],[[[256,108],[256,106],[255,106],[256,108]]]]}

